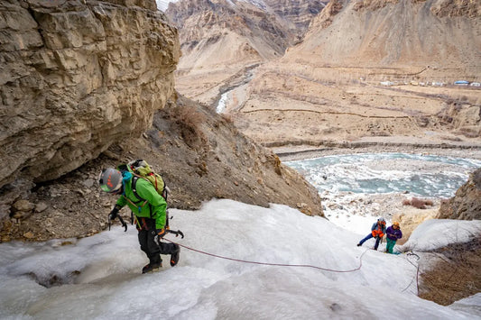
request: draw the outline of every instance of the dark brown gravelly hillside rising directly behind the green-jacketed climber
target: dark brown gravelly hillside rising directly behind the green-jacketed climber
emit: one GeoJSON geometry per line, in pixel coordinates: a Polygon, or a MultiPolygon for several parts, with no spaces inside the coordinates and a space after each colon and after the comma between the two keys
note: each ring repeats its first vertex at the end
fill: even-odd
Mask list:
{"type": "MultiPolygon", "coordinates": [[[[284,204],[323,216],[317,190],[279,158],[239,133],[226,117],[180,97],[158,111],[141,138],[113,144],[62,178],[37,184],[17,198],[1,241],[82,237],[105,230],[116,197],[97,184],[101,169],[147,160],[171,188],[169,206],[196,209],[212,198],[284,204]]],[[[130,212],[121,212],[125,221],[130,212]]],[[[171,223],[174,228],[175,220],[171,223]]],[[[133,226],[130,226],[133,227],[133,226]]],[[[215,226],[213,226],[215,227],[215,226]]]]}

